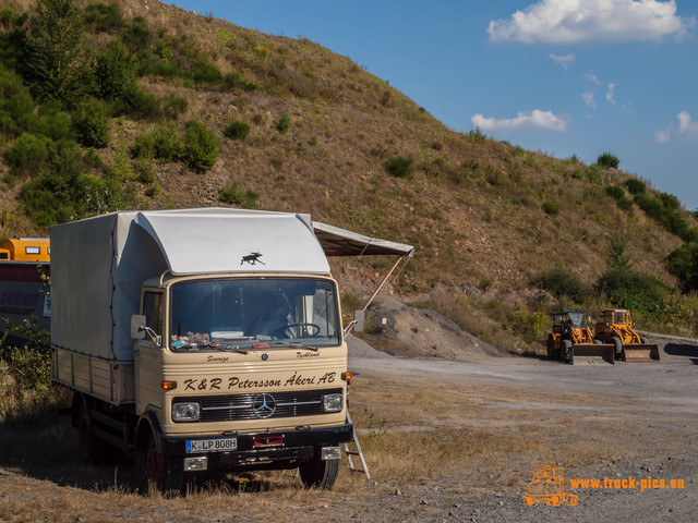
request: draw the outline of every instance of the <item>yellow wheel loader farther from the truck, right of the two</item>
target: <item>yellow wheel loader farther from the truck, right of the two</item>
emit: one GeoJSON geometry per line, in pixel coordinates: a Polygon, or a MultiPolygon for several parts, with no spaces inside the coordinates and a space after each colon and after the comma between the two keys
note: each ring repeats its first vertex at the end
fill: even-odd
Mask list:
{"type": "Polygon", "coordinates": [[[613,343],[616,360],[625,362],[659,361],[659,346],[647,343],[634,329],[633,316],[625,308],[606,308],[597,324],[594,338],[613,343]]]}

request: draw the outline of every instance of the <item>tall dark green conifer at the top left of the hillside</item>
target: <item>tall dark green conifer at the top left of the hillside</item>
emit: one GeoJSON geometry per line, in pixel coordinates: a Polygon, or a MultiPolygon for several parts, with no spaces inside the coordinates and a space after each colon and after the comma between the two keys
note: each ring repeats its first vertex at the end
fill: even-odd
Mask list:
{"type": "Polygon", "coordinates": [[[84,33],[74,0],[37,0],[27,35],[27,80],[40,99],[64,106],[79,99],[84,33]]]}

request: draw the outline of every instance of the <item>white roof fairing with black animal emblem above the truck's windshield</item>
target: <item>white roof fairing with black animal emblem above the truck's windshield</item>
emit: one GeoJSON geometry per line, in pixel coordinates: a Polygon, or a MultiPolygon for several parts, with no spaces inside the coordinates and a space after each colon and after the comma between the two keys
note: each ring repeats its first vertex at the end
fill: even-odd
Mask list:
{"type": "Polygon", "coordinates": [[[329,273],[323,250],[300,215],[197,210],[144,211],[136,217],[160,247],[172,275],[329,273]]]}

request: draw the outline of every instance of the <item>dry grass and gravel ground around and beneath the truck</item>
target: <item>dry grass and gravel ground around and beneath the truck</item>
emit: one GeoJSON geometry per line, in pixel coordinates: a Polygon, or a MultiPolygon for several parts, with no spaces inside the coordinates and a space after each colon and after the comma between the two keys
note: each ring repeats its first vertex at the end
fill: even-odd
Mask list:
{"type": "Polygon", "coordinates": [[[650,341],[659,363],[570,366],[472,348],[393,357],[353,338],[351,413],[371,479],[345,462],[332,491],[278,472],[164,499],[134,486],[127,461],[80,464],[65,418],[36,438],[3,434],[0,521],[698,521],[698,346],[650,341]],[[564,469],[576,506],[525,503],[543,463],[564,469]],[[672,479],[683,488],[652,488],[672,479]]]}

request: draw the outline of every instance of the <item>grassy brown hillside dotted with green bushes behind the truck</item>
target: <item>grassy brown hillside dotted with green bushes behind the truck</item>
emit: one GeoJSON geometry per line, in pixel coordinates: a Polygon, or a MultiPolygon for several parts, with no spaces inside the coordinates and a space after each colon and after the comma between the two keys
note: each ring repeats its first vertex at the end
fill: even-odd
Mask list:
{"type": "MultiPolygon", "coordinates": [[[[2,5],[3,52],[16,58],[12,35],[36,31],[34,2],[2,5]]],[[[59,133],[56,122],[64,114],[65,134],[79,146],[64,145],[59,133],[46,138],[46,161],[25,166],[8,154],[19,149],[24,127],[0,121],[0,236],[47,234],[57,220],[118,208],[310,212],[413,244],[414,259],[392,292],[518,350],[538,346],[551,309],[577,304],[595,314],[625,300],[599,284],[615,245],[629,258],[625,269],[664,285],[661,301],[645,299],[654,305],[640,312],[642,327],[696,330],[694,299],[674,290],[678,281],[666,262],[693,239],[694,217],[651,186],[634,194],[636,186],[626,184],[631,174],[525,150],[477,130],[456,133],[308,39],[264,35],[158,2],[76,7],[85,24],[75,99],[67,95],[51,109],[56,90],[41,93],[21,60],[16,66],[3,60],[19,73],[38,121],[52,114],[50,129],[59,133]],[[124,56],[129,63],[120,69],[124,56]],[[124,71],[132,84],[120,76],[124,71]],[[104,139],[95,120],[106,122],[104,139]],[[63,172],[70,166],[72,174],[63,172]],[[71,198],[74,205],[65,204],[71,198]],[[563,291],[541,275],[564,275],[563,291]],[[573,283],[587,290],[569,292],[573,283]]],[[[5,102],[14,89],[5,88],[5,102]]],[[[5,107],[10,120],[13,107],[5,107]]],[[[26,130],[41,135],[41,125],[48,124],[26,130]]],[[[347,304],[368,293],[389,263],[335,264],[351,291],[347,304]]]]}

